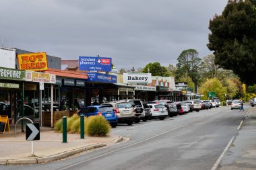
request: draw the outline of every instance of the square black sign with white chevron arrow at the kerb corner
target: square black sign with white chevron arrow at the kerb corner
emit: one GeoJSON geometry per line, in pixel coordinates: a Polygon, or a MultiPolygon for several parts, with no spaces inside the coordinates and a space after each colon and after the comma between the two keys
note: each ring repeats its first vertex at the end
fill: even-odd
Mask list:
{"type": "Polygon", "coordinates": [[[26,124],[26,140],[40,140],[40,126],[36,124],[26,124]]]}

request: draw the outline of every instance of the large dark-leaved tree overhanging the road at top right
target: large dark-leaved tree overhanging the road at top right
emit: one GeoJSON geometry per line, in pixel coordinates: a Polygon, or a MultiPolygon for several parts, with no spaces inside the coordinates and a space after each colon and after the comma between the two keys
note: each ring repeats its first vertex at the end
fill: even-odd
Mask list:
{"type": "Polygon", "coordinates": [[[247,85],[256,83],[256,2],[229,0],[222,15],[210,20],[209,44],[215,62],[234,71],[247,85]]]}

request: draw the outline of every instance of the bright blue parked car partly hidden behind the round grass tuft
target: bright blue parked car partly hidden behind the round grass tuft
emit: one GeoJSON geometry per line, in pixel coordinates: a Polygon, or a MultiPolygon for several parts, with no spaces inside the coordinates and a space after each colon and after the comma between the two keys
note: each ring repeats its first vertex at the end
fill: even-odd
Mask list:
{"type": "Polygon", "coordinates": [[[90,105],[88,107],[82,108],[78,112],[78,115],[84,114],[84,116],[104,116],[110,126],[113,128],[117,127],[118,118],[115,111],[111,105],[90,105]]]}

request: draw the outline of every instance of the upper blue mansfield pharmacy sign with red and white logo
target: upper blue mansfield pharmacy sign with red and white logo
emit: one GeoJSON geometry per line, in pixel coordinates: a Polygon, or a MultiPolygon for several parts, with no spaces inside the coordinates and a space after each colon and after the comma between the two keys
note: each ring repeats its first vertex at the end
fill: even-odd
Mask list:
{"type": "Polygon", "coordinates": [[[112,59],[94,56],[79,56],[80,71],[111,71],[112,59]]]}

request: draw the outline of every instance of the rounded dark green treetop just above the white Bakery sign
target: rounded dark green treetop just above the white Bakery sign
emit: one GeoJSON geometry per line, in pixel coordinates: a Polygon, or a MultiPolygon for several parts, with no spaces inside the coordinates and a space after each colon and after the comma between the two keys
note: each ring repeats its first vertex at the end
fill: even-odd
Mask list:
{"type": "Polygon", "coordinates": [[[143,68],[142,73],[151,73],[152,76],[169,77],[170,71],[164,66],[161,66],[159,62],[149,63],[143,68]]]}

